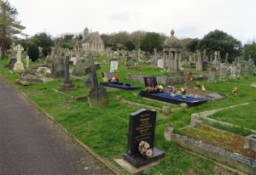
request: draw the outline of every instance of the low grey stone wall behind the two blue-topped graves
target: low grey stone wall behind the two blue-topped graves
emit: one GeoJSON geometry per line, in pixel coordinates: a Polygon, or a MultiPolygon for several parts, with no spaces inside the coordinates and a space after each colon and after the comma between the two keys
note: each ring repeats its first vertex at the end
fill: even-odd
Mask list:
{"type": "MultiPolygon", "coordinates": [[[[126,78],[128,80],[132,80],[134,82],[142,82],[144,75],[133,75],[131,73],[126,74],[126,78]]],[[[176,77],[168,77],[168,76],[156,76],[157,82],[159,84],[184,84],[185,83],[185,77],[184,76],[176,76],[176,77]]],[[[194,81],[203,81],[206,80],[207,77],[203,76],[195,76],[193,77],[194,81]]]]}

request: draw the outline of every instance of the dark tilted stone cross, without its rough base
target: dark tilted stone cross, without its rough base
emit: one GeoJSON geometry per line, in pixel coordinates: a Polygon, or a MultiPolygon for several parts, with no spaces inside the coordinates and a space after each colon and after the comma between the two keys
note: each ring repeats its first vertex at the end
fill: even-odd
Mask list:
{"type": "Polygon", "coordinates": [[[88,59],[89,59],[90,65],[88,67],[84,68],[84,71],[86,74],[90,74],[90,80],[92,82],[92,89],[96,89],[99,87],[99,82],[98,82],[97,75],[96,75],[96,70],[97,70],[97,68],[99,69],[99,65],[97,67],[96,67],[96,65],[94,65],[94,60],[93,60],[91,53],[88,55],[88,59]]]}

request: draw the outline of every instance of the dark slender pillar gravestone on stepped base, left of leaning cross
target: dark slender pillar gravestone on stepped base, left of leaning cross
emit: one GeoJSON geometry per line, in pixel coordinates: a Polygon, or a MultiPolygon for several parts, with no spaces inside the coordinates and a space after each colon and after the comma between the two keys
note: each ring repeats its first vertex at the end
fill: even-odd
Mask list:
{"type": "Polygon", "coordinates": [[[74,84],[69,77],[69,65],[73,65],[73,61],[69,61],[69,56],[65,57],[65,75],[64,80],[61,82],[61,89],[73,89],[74,84]]]}

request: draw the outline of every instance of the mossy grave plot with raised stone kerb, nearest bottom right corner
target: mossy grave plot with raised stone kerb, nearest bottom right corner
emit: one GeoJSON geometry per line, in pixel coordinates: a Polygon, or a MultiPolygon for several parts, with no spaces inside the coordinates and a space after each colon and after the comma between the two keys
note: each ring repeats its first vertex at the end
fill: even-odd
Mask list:
{"type": "MultiPolygon", "coordinates": [[[[170,128],[167,128],[166,132],[168,130],[170,131],[170,128]]],[[[186,150],[209,157],[239,172],[250,175],[256,173],[256,151],[253,150],[256,135],[244,138],[205,125],[183,127],[175,133],[165,134],[169,141],[186,150]]]]}

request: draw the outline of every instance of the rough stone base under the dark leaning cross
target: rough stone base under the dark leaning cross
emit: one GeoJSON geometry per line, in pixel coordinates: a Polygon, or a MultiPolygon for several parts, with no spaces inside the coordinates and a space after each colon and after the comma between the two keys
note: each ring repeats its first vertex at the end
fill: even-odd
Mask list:
{"type": "Polygon", "coordinates": [[[98,87],[96,89],[90,90],[88,101],[90,107],[108,105],[107,89],[104,87],[98,87]]]}

